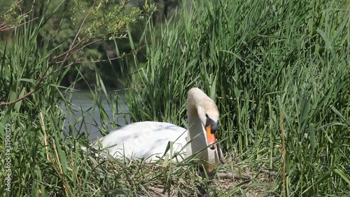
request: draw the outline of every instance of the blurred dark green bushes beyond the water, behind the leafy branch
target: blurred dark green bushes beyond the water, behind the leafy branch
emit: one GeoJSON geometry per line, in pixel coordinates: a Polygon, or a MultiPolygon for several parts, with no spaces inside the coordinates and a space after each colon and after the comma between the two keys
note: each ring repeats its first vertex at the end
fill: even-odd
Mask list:
{"type": "MultiPolygon", "coordinates": [[[[53,48],[57,45],[61,45],[58,50],[68,50],[70,43],[76,36],[76,31],[79,29],[79,25],[84,21],[85,26],[97,25],[97,19],[110,20],[109,26],[98,28],[99,33],[107,34],[111,31],[117,30],[118,26],[123,26],[122,23],[117,24],[117,21],[128,22],[127,18],[117,18],[120,15],[120,10],[115,10],[115,5],[120,1],[87,1],[87,0],[64,0],[64,1],[20,1],[20,8],[17,8],[13,15],[8,15],[9,18],[15,18],[17,13],[25,13],[31,10],[31,18],[47,18],[48,22],[43,24],[38,30],[38,37],[36,38],[40,47],[44,46],[44,43],[50,43],[47,47],[53,48]],[[90,8],[94,7],[94,10],[90,8]],[[90,17],[85,18],[85,14],[90,13],[90,17]],[[115,21],[113,21],[113,20],[115,21]],[[113,24],[111,24],[113,22],[113,24]]],[[[152,16],[154,22],[160,22],[167,15],[172,15],[173,10],[179,5],[176,0],[156,0],[148,1],[148,3],[156,3],[158,11],[155,11],[152,16]]],[[[0,1],[3,5],[0,8],[0,13],[6,13],[8,8],[13,4],[12,1],[0,1]]],[[[144,11],[145,1],[132,0],[127,1],[125,11],[127,13],[132,12],[132,8],[139,8],[140,11],[144,11]]],[[[6,18],[0,20],[3,21],[6,18]]],[[[139,43],[139,38],[142,36],[144,29],[144,19],[134,18],[137,23],[129,26],[130,33],[134,37],[134,46],[139,48],[142,43],[139,43]]],[[[32,21],[38,25],[38,20],[32,21]]],[[[94,28],[94,27],[92,27],[94,28]]],[[[97,29],[94,29],[97,30],[97,29]]],[[[85,50],[79,53],[79,66],[68,67],[67,74],[62,79],[62,85],[69,86],[71,83],[76,83],[76,88],[87,88],[85,81],[74,81],[78,72],[83,74],[84,78],[90,85],[95,85],[96,79],[94,78],[95,68],[99,75],[104,79],[104,83],[109,88],[121,88],[125,84],[125,76],[127,76],[130,69],[135,67],[134,64],[129,64],[129,67],[123,67],[124,64],[118,63],[115,59],[123,56],[123,53],[130,53],[131,48],[128,39],[125,34],[125,29],[119,29],[118,39],[113,41],[105,39],[103,41],[91,43],[85,47],[85,50]],[[115,44],[118,45],[118,52],[116,51],[115,44]]],[[[2,31],[0,38],[6,41],[13,41],[13,29],[2,31]]],[[[137,58],[141,62],[145,62],[145,51],[139,48],[137,58]]],[[[76,58],[76,57],[75,57],[76,58]]]]}

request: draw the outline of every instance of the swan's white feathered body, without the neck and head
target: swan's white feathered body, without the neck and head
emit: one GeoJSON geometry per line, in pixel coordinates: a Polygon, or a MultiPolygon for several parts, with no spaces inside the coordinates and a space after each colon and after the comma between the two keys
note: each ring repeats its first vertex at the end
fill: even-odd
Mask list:
{"type": "Polygon", "coordinates": [[[102,148],[107,148],[109,154],[116,158],[146,157],[154,161],[163,156],[169,141],[174,142],[174,151],[180,151],[187,143],[186,137],[185,128],[171,123],[145,121],[113,130],[106,137],[102,137],[101,142],[104,146],[102,148]]]}

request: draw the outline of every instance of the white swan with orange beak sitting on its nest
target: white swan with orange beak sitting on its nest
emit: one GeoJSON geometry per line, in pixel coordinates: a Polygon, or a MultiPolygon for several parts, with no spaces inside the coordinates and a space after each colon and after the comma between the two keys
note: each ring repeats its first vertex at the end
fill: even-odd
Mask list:
{"type": "MultiPolygon", "coordinates": [[[[165,154],[167,145],[173,144],[173,153],[179,152],[183,158],[197,154],[199,163],[208,172],[223,163],[223,152],[216,143],[218,128],[218,107],[199,88],[188,91],[188,135],[186,129],[171,123],[139,122],[125,125],[99,140],[100,148],[106,148],[116,158],[148,158],[158,160],[165,154]],[[189,143],[189,144],[187,144],[189,143]],[[183,149],[183,147],[185,147],[183,149]]],[[[98,146],[98,142],[92,144],[98,146]]],[[[169,152],[169,151],[168,151],[169,152]]],[[[177,157],[178,161],[183,158],[177,157]]]]}

